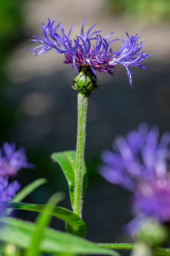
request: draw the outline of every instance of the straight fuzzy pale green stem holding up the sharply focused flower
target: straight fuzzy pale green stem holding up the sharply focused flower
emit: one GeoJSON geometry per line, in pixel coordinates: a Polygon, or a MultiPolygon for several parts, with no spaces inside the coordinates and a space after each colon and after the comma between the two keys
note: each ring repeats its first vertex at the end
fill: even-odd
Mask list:
{"type": "Polygon", "coordinates": [[[76,168],[74,186],[74,213],[82,217],[83,204],[83,174],[84,174],[84,150],[86,139],[86,118],[89,96],[78,93],[78,124],[76,145],[76,168]]]}

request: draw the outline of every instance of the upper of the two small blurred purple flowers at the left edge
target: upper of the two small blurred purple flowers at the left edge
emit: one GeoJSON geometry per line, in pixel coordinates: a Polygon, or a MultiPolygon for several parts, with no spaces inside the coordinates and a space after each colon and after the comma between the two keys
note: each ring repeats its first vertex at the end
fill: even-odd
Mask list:
{"type": "Polygon", "coordinates": [[[14,177],[21,168],[34,168],[34,164],[27,163],[25,149],[16,150],[15,144],[5,142],[0,149],[0,175],[14,177]]]}

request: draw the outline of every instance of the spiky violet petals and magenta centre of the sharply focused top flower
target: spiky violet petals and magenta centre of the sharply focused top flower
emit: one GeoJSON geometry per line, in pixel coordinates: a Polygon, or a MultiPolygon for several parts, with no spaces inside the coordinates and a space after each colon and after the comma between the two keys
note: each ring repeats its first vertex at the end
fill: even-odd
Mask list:
{"type": "Polygon", "coordinates": [[[138,37],[137,34],[136,36],[130,37],[128,33],[126,33],[128,38],[123,37],[121,49],[114,52],[110,44],[119,39],[112,39],[107,42],[107,39],[113,32],[103,38],[98,34],[101,31],[91,32],[96,26],[95,24],[84,34],[85,22],[86,20],[84,20],[82,24],[81,36],[76,36],[77,38],[73,41],[70,39],[70,34],[74,26],[70,28],[66,36],[61,23],[55,27],[54,18],[52,22],[49,19],[47,26],[42,22],[44,38],[36,34],[36,36],[33,36],[35,39],[31,40],[41,43],[41,45],[29,51],[33,51],[35,56],[37,56],[53,48],[56,52],[64,54],[64,63],[73,64],[72,66],[76,69],[78,74],[78,68],[81,66],[90,66],[95,76],[97,76],[96,70],[115,75],[111,69],[115,68],[117,64],[120,64],[127,69],[129,82],[132,86],[133,72],[129,65],[147,69],[140,63],[149,56],[152,56],[145,54],[144,51],[139,53],[144,41],[138,44],[137,41],[140,37],[138,37]],[[61,28],[60,34],[58,33],[58,28],[61,28]],[[92,40],[95,40],[95,43],[91,45],[92,40]],[[37,52],[39,49],[40,51],[37,52]]]}

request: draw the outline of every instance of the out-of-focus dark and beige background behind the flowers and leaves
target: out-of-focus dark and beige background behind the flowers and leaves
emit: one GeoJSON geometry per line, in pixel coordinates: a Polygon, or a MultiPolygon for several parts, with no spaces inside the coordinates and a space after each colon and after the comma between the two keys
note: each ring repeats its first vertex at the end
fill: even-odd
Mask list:
{"type": "MultiPolygon", "coordinates": [[[[170,1],[169,0],[8,0],[0,1],[0,144],[15,141],[27,149],[35,170],[22,169],[17,179],[25,186],[46,177],[48,183],[36,189],[24,202],[45,203],[56,191],[65,191],[59,205],[71,209],[68,187],[52,152],[75,149],[77,93],[71,88],[76,72],[64,64],[63,55],[49,51],[33,58],[37,44],[31,36],[42,35],[41,21],[54,16],[72,37],[97,23],[102,36],[114,31],[114,38],[131,35],[146,40],[143,50],[155,56],[143,62],[148,71],[133,68],[133,89],[125,69],[115,77],[98,73],[97,91],[89,98],[85,160],[89,185],[84,198],[83,220],[87,238],[95,242],[129,242],[124,227],[132,218],[130,195],[109,184],[97,173],[100,153],[112,148],[116,135],[126,135],[141,122],[158,125],[160,134],[170,130],[170,1]]],[[[121,41],[112,44],[118,50],[121,41]]],[[[34,220],[36,213],[20,211],[18,216],[34,220]]],[[[64,230],[54,219],[52,226],[64,230]]]]}

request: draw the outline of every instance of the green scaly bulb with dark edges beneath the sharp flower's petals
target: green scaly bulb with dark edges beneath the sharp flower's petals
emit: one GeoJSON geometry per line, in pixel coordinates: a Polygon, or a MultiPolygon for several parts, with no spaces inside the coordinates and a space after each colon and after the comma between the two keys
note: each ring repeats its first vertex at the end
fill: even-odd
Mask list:
{"type": "Polygon", "coordinates": [[[90,95],[97,88],[97,77],[93,74],[91,68],[81,66],[79,74],[74,77],[73,83],[74,90],[90,95]]]}

